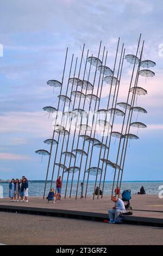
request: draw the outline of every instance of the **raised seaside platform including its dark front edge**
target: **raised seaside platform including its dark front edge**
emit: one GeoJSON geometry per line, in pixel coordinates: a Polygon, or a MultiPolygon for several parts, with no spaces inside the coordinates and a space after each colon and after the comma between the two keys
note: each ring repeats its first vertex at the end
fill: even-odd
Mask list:
{"type": "MultiPolygon", "coordinates": [[[[126,223],[154,225],[163,227],[163,199],[156,195],[132,195],[132,216],[124,216],[126,223]]],[[[108,218],[108,209],[114,203],[110,196],[102,199],[62,198],[55,204],[47,203],[41,197],[30,197],[29,202],[10,202],[9,198],[0,199],[0,211],[19,212],[45,216],[78,218],[83,220],[104,221],[108,218]]]]}

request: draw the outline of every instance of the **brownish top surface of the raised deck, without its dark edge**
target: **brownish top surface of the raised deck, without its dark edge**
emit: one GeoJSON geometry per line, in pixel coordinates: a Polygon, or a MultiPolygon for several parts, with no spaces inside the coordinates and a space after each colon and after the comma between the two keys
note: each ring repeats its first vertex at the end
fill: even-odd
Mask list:
{"type": "MultiPolygon", "coordinates": [[[[133,215],[141,217],[163,218],[163,198],[160,199],[157,195],[131,195],[131,206],[133,207],[133,215]],[[142,211],[143,210],[143,211],[142,211]],[[160,212],[156,212],[160,211],[160,212]]],[[[16,205],[16,206],[29,206],[36,208],[47,209],[63,209],[87,212],[100,212],[108,213],[108,209],[114,206],[110,197],[104,196],[103,199],[95,197],[87,197],[86,199],[62,198],[55,204],[47,203],[42,197],[29,197],[29,202],[10,202],[9,198],[0,199],[0,205],[16,205]]]]}

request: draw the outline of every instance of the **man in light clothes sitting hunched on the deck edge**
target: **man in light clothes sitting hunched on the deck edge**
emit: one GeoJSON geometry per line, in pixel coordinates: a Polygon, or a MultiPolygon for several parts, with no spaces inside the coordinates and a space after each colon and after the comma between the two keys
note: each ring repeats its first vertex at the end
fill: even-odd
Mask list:
{"type": "Polygon", "coordinates": [[[115,202],[115,206],[108,211],[110,219],[109,223],[115,223],[116,218],[119,215],[124,214],[124,212],[126,212],[126,209],[123,201],[120,198],[111,197],[111,200],[115,202]]]}

